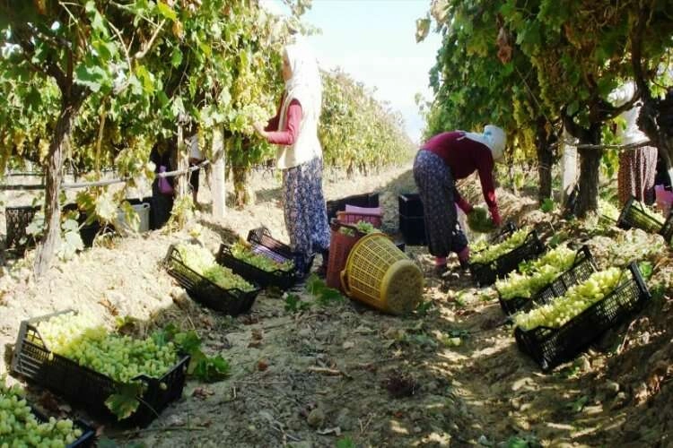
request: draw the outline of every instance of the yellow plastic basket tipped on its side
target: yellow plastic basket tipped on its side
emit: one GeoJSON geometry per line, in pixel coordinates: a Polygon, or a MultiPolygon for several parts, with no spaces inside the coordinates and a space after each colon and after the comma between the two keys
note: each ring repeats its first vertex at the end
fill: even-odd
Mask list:
{"type": "Polygon", "coordinates": [[[349,297],[390,314],[414,310],[423,296],[423,272],[385,235],[371,233],[351,249],[341,286],[349,297]]]}

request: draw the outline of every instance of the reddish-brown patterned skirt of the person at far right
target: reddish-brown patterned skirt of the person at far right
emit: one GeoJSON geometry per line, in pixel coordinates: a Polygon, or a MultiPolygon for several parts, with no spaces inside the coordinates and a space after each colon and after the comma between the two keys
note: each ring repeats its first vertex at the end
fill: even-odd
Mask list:
{"type": "Polygon", "coordinates": [[[624,205],[631,196],[638,201],[654,200],[654,177],[657,174],[657,148],[644,146],[619,153],[617,189],[619,203],[624,205]]]}

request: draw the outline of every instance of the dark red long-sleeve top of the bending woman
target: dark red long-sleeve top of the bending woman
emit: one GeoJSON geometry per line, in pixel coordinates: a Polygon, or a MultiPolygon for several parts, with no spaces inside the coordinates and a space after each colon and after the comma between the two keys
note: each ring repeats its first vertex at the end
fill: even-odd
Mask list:
{"type": "Polygon", "coordinates": [[[496,207],[491,150],[485,144],[469,140],[464,135],[459,131],[437,134],[425,142],[421,149],[440,156],[450,168],[454,180],[464,179],[475,171],[478,172],[486,204],[489,209],[496,207]]]}

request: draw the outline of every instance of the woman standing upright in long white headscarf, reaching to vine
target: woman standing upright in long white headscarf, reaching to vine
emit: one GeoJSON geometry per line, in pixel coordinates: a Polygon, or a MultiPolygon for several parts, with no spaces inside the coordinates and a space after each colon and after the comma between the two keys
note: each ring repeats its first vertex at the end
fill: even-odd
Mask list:
{"type": "Polygon", "coordinates": [[[284,95],[278,113],[258,134],[279,145],[276,165],[283,171],[285,228],[293,250],[322,254],[318,273],[325,275],[328,263],[329,227],[322,192],[322,148],[318,120],[322,84],[316,58],[304,43],[288,45],[283,52],[284,95]]]}

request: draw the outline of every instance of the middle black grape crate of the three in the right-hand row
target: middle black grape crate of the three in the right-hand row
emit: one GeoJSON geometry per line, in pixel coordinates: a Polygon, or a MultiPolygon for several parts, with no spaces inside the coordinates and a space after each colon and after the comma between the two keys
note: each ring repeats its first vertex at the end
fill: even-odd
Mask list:
{"type": "Polygon", "coordinates": [[[563,296],[572,285],[587,280],[592,273],[596,271],[596,264],[593,262],[588,246],[582,246],[577,254],[572,266],[564,271],[554,281],[545,288],[540,289],[533,297],[511,297],[508,300],[498,295],[500,306],[505,314],[514,314],[517,311],[525,310],[533,304],[546,304],[555,297],[563,296]]]}

